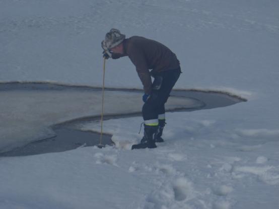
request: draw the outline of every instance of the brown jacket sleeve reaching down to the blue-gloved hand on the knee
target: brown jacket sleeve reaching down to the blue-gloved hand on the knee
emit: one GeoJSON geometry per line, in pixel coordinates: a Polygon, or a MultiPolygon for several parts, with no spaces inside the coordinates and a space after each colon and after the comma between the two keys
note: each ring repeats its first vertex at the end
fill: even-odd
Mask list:
{"type": "Polygon", "coordinates": [[[151,94],[152,80],[143,50],[140,47],[131,47],[128,56],[135,65],[137,75],[141,79],[145,93],[151,94]]]}

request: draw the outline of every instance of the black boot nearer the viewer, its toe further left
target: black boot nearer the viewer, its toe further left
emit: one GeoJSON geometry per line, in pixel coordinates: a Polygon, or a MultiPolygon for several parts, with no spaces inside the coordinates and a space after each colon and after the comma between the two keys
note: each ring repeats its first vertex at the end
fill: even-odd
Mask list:
{"type": "Polygon", "coordinates": [[[140,144],[133,145],[133,149],[146,149],[146,148],[157,148],[155,144],[155,137],[158,131],[158,125],[146,125],[144,130],[144,137],[140,144]]]}

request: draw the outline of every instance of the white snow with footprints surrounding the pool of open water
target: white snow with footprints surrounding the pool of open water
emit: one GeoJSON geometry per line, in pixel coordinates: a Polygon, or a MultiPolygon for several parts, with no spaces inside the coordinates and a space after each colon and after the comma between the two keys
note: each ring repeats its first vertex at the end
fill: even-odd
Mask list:
{"type": "MultiPolygon", "coordinates": [[[[101,40],[118,28],[177,54],[183,74],[175,88],[248,99],[167,113],[165,142],[156,149],[125,146],[141,138],[142,118],[133,117],[105,121],[115,147],[0,158],[0,208],[278,208],[278,11],[272,0],[0,0],[1,82],[100,87],[101,40]]],[[[142,87],[128,58],[107,61],[106,86],[142,87]]],[[[77,108],[72,116],[87,114],[77,108]]],[[[67,119],[56,112],[47,120],[67,119]]]]}

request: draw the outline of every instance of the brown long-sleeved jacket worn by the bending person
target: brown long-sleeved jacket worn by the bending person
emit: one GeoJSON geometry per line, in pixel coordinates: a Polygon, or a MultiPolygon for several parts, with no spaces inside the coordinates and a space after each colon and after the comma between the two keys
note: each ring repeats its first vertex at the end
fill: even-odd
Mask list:
{"type": "Polygon", "coordinates": [[[123,41],[124,54],[112,54],[113,59],[128,56],[135,65],[145,93],[150,94],[152,80],[149,69],[155,73],[177,69],[179,61],[176,55],[165,45],[140,36],[132,36],[123,41]]]}

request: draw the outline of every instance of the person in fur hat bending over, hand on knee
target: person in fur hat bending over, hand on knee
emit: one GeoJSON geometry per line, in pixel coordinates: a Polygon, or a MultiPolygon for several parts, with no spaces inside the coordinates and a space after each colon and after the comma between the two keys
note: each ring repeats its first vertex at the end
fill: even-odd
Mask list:
{"type": "Polygon", "coordinates": [[[144,136],[132,150],[156,148],[156,143],[164,142],[161,136],[166,121],[165,103],[181,74],[179,60],[162,43],[141,36],[125,38],[117,29],[105,35],[102,48],[106,59],[128,56],[144,86],[144,136]],[[154,77],[153,82],[151,77],[154,77]]]}

